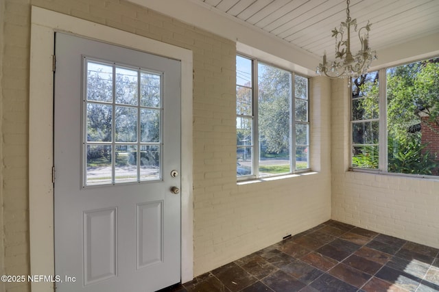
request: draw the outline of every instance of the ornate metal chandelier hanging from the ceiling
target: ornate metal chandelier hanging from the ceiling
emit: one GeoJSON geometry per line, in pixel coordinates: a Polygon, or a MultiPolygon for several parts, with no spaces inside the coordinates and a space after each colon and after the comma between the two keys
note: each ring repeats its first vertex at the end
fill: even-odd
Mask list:
{"type": "Polygon", "coordinates": [[[335,61],[330,64],[327,62],[327,52],[323,53],[323,60],[317,66],[316,74],[324,75],[330,78],[357,78],[364,75],[369,69],[372,60],[377,59],[376,51],[369,48],[369,31],[372,23],[369,23],[360,29],[357,29],[357,19],[352,19],[349,11],[347,0],[346,22],[340,24],[340,28],[333,29],[332,37],[335,37],[335,61]],[[351,53],[351,28],[358,33],[361,50],[357,54],[351,53]],[[364,34],[361,36],[361,33],[364,34]],[[347,33],[346,40],[344,39],[347,33]]]}

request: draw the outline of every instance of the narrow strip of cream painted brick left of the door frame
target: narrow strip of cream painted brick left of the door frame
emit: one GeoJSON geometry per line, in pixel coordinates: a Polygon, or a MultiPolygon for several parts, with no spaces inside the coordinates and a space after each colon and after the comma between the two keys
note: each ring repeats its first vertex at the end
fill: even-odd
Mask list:
{"type": "MultiPolygon", "coordinates": [[[[27,113],[30,8],[25,1],[4,4],[1,79],[1,196],[4,274],[29,273],[27,199],[27,113]],[[23,3],[24,2],[24,3],[23,3]]],[[[26,283],[5,283],[5,291],[27,291],[26,283]]]]}

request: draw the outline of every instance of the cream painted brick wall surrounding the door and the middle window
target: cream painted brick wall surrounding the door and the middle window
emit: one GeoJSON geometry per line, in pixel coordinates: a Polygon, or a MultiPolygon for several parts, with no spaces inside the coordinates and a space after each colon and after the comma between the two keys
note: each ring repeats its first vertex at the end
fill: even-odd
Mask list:
{"type": "MultiPolygon", "coordinates": [[[[235,42],[123,0],[3,0],[1,3],[5,3],[0,85],[3,137],[0,200],[3,200],[5,274],[29,273],[27,114],[31,5],[193,51],[195,276],[329,219],[328,81],[311,82],[314,92],[311,115],[317,126],[311,128],[311,165],[319,173],[237,185],[235,42]]],[[[5,291],[29,291],[29,285],[7,283],[5,291]]]]}

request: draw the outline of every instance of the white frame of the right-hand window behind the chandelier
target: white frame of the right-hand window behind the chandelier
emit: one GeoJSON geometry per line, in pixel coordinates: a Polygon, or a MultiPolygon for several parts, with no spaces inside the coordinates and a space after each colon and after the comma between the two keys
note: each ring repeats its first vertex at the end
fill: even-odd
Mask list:
{"type": "Polygon", "coordinates": [[[349,171],[353,172],[368,172],[372,174],[385,174],[392,176],[408,176],[412,178],[430,178],[438,179],[439,176],[427,175],[427,174],[405,174],[401,172],[389,172],[388,171],[388,103],[387,103],[387,70],[390,68],[396,68],[399,66],[405,66],[408,64],[413,64],[417,62],[427,61],[429,59],[439,58],[439,55],[432,55],[429,57],[423,57],[421,59],[414,59],[407,62],[402,62],[398,64],[393,64],[392,66],[383,66],[377,70],[371,70],[369,72],[378,72],[379,74],[379,141],[378,141],[378,151],[379,151],[379,165],[377,169],[373,168],[359,168],[353,166],[353,124],[359,120],[353,120],[353,108],[352,108],[352,85],[353,79],[348,80],[349,82],[349,110],[350,110],[350,120],[349,120],[349,171]],[[383,155],[384,154],[384,155],[383,155]]]}

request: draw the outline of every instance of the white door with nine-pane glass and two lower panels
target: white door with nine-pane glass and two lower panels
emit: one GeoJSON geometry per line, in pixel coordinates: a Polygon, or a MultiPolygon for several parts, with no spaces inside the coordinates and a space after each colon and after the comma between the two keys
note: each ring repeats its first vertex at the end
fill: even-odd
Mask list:
{"type": "Polygon", "coordinates": [[[180,62],[56,34],[57,291],[180,282],[180,62]]]}

